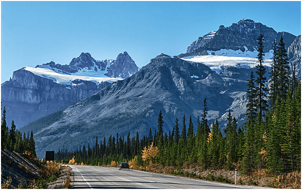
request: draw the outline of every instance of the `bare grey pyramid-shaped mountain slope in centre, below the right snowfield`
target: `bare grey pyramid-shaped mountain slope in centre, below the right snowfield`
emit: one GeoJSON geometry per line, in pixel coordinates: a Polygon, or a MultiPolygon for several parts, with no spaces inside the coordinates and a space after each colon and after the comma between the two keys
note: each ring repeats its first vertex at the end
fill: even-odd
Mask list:
{"type": "MultiPolygon", "coordinates": [[[[159,110],[163,114],[164,132],[172,130],[175,118],[181,119],[183,114],[187,118],[192,116],[196,131],[204,98],[208,102],[209,122],[216,118],[223,120],[231,108],[242,124],[247,101],[243,89],[246,90],[249,74],[250,68],[241,68],[238,76],[232,75],[234,78],[218,75],[202,63],[160,54],[131,77],[20,130],[33,130],[39,156],[46,149],[57,150],[63,145],[76,149],[83,143],[94,143],[96,136],[148,134],[150,128],[157,129],[159,110]],[[55,119],[41,125],[50,118],[55,119]]],[[[223,128],[224,123],[220,124],[223,128]]]]}

